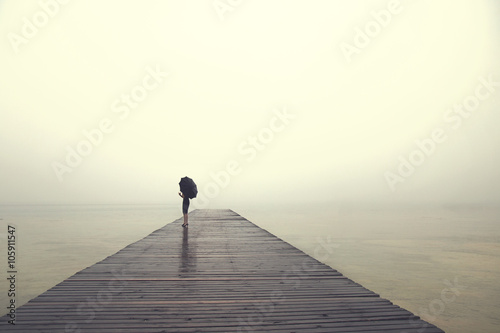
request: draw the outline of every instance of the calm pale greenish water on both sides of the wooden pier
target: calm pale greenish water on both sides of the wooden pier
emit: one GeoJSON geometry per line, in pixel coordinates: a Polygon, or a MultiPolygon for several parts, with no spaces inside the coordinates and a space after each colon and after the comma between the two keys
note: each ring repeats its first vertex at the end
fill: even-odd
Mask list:
{"type": "MultiPolygon", "coordinates": [[[[498,208],[230,208],[446,332],[500,331],[498,208]]],[[[177,204],[0,206],[1,271],[8,224],[18,236],[23,304],[179,217],[177,204]]],[[[2,279],[2,308],[7,289],[2,279]]]]}

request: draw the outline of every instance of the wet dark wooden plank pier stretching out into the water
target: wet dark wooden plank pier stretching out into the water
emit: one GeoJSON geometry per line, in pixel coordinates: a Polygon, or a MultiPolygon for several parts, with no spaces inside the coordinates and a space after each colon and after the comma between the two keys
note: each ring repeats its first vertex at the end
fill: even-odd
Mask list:
{"type": "MultiPolygon", "coordinates": [[[[231,210],[196,210],[17,309],[22,332],[443,332],[231,210]]],[[[8,326],[7,326],[8,325],[8,326]]]]}

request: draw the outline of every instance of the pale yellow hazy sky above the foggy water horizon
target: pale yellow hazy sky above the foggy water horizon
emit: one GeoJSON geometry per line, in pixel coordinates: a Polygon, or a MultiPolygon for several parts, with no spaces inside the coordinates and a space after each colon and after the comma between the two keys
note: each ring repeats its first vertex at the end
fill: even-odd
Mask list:
{"type": "Polygon", "coordinates": [[[0,203],[500,203],[497,1],[60,2],[0,1],[0,203]]]}

